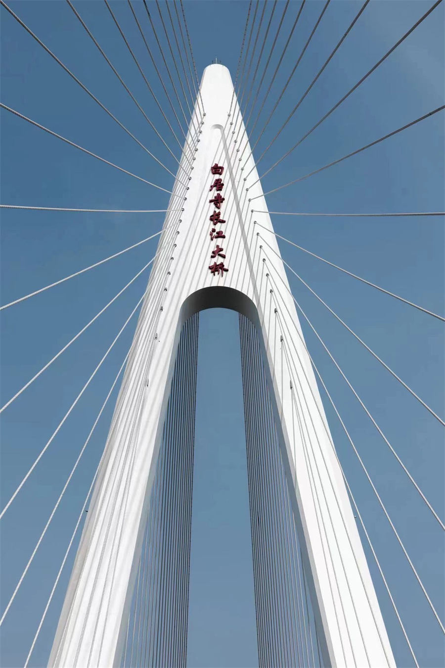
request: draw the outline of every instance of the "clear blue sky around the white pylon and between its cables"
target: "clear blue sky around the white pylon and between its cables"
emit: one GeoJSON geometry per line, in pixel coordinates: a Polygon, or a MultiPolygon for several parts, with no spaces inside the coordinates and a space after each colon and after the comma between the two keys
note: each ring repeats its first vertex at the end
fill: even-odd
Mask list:
{"type": "MultiPolygon", "coordinates": [[[[260,175],[296,143],[432,5],[432,1],[372,0],[286,132],[260,162],[260,175]],[[291,143],[292,142],[292,143],[291,143]]],[[[161,3],[165,9],[163,3],[161,3]]],[[[63,0],[14,1],[13,10],[156,156],[175,171],[161,142],[63,0]]],[[[105,4],[77,2],[81,16],[171,148],[174,140],[121,39],[105,4]]],[[[126,2],[112,3],[153,90],[159,81],[126,2]]],[[[153,21],[159,26],[155,4],[153,21]]],[[[266,84],[300,7],[289,17],[266,84]]],[[[358,12],[360,3],[333,0],[306,51],[256,156],[268,145],[358,12]]],[[[185,2],[199,76],[214,57],[234,78],[247,1],[185,2]]],[[[266,9],[266,17],[272,9],[266,9]]],[[[284,9],[280,0],[271,35],[284,9]]],[[[255,139],[322,9],[306,2],[255,139]]],[[[157,51],[143,5],[135,2],[157,51]]],[[[164,12],[165,13],[165,12],[164,12]]],[[[166,13],[165,13],[166,15],[166,13]]],[[[167,16],[167,15],[166,15],[167,16]]],[[[111,162],[170,189],[172,178],[70,79],[4,10],[1,18],[1,101],[111,162]]],[[[264,190],[302,176],[444,104],[444,4],[396,49],[278,168],[264,190]]],[[[264,29],[263,29],[264,33],[264,29]]],[[[165,39],[159,39],[167,53],[165,39]]],[[[272,39],[269,40],[269,45],[272,39]]],[[[266,54],[260,63],[262,73],[266,54]]],[[[171,66],[171,57],[167,55],[171,66]]],[[[166,83],[167,85],[167,83],[166,83]]],[[[260,96],[262,100],[262,96],[260,96]]],[[[258,113],[258,108],[257,112],[258,113]]],[[[173,115],[169,114],[169,118],[173,115]]],[[[1,112],[1,202],[79,208],[165,208],[167,194],[1,112]]],[[[178,150],[179,148],[176,147],[178,150]]],[[[175,150],[173,148],[173,150],[175,150]]],[[[385,212],[444,210],[444,114],[267,197],[275,211],[385,212]]],[[[444,313],[442,218],[290,218],[272,216],[276,231],[346,269],[415,303],[444,313]]],[[[160,230],[162,214],[99,214],[2,210],[1,303],[63,278],[160,230]]],[[[5,403],[155,254],[157,240],[3,313],[1,403],[5,403]]],[[[443,323],[403,305],[280,242],[284,259],[438,413],[444,414],[443,323]]],[[[1,507],[56,428],[117,331],[141,297],[142,275],[27,391],[3,413],[1,507]]],[[[320,303],[290,275],[296,299],[360,396],[444,516],[444,433],[320,303]]],[[[430,597],[444,618],[444,542],[440,528],[388,452],[352,393],[305,323],[308,347],[336,398],[352,438],[387,504],[430,597]]],[[[131,321],[75,407],[29,482],[1,522],[3,611],[47,521],[63,482],[125,357],[131,321]]],[[[3,626],[0,665],[23,665],[73,526],[99,461],[111,420],[113,393],[63,498],[61,507],[3,626]]],[[[325,399],[323,395],[323,399],[325,399]]],[[[444,665],[440,629],[378,507],[358,462],[324,401],[340,460],[422,668],[444,665]]],[[[190,667],[258,665],[238,317],[207,311],[199,324],[197,432],[193,498],[190,667]],[[214,347],[219,353],[215,370],[214,347]],[[216,371],[216,373],[215,373],[216,371]],[[215,377],[217,382],[215,383],[215,377]],[[214,410],[217,393],[219,408],[214,410]]],[[[77,542],[75,543],[77,545],[77,542]]],[[[369,556],[369,550],[367,551],[369,556]]],[[[372,559],[372,557],[371,557],[372,559]]],[[[49,609],[31,665],[46,664],[73,553],[49,609]]],[[[380,576],[370,561],[398,665],[412,660],[380,576]]]]}

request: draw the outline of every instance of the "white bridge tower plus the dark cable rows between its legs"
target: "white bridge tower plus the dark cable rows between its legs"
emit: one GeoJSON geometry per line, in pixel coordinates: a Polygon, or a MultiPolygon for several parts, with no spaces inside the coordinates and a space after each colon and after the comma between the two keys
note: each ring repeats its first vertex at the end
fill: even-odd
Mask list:
{"type": "MultiPolygon", "coordinates": [[[[270,609],[280,587],[282,619],[289,628],[296,628],[289,582],[285,577],[280,587],[278,580],[268,584],[264,570],[267,553],[274,550],[272,529],[286,525],[288,534],[289,518],[298,534],[303,585],[314,617],[308,631],[316,634],[321,664],[394,665],[278,244],[268,234],[272,223],[253,157],[248,158],[245,171],[241,167],[240,156],[248,154],[230,73],[223,65],[209,65],[171,196],[171,208],[179,202],[183,210],[169,212],[165,218],[55,635],[51,666],[121,665],[133,591],[141,579],[141,550],[144,541],[147,544],[148,524],[154,526],[153,508],[160,503],[156,501],[160,498],[156,489],[162,484],[159,462],[167,457],[168,444],[180,450],[179,454],[176,450],[179,464],[174,484],[183,492],[175,503],[187,511],[179,523],[172,516],[169,535],[174,538],[178,526],[188,526],[196,314],[211,307],[240,313],[260,665],[278,661],[268,626],[272,619],[280,626],[270,609]],[[194,151],[193,145],[197,146],[194,151]],[[186,188],[187,166],[193,171],[188,172],[186,188]],[[244,174],[251,170],[256,183],[247,190],[244,174]],[[252,212],[252,198],[261,214],[252,212]],[[267,245],[258,234],[258,224],[266,228],[262,236],[267,245]],[[178,401],[179,409],[173,406],[178,401]],[[274,443],[278,454],[272,460],[274,443]],[[260,446],[263,459],[257,452],[260,446]],[[280,500],[274,501],[275,520],[268,524],[274,484],[271,468],[279,472],[282,488],[280,500]],[[181,472],[188,476],[188,487],[181,472]],[[263,481],[262,487],[258,480],[263,481]],[[287,523],[283,523],[286,514],[287,523]],[[262,518],[266,518],[263,524],[262,518]],[[266,525],[269,530],[264,529],[266,525]]],[[[224,341],[215,341],[215,360],[220,345],[224,341]]],[[[215,388],[209,391],[215,392],[215,403],[224,398],[224,388],[218,388],[217,365],[215,388]]],[[[163,466],[165,477],[167,464],[163,466]]],[[[167,508],[168,499],[162,498],[167,508]]],[[[160,534],[166,531],[161,528],[160,534]]],[[[293,551],[293,541],[288,536],[282,552],[291,546],[293,551]]],[[[171,623],[181,608],[179,602],[187,599],[188,582],[181,579],[187,578],[189,530],[176,536],[174,544],[175,554],[181,555],[172,570],[176,577],[163,587],[164,591],[176,588],[177,605],[167,609],[161,604],[163,623],[171,623]]],[[[280,558],[288,563],[289,555],[280,558]]],[[[272,566],[278,568],[277,563],[272,566]]],[[[146,580],[147,589],[151,587],[148,576],[146,580]]],[[[149,591],[157,596],[154,588],[149,591]]],[[[175,625],[174,665],[185,665],[180,647],[183,628],[175,625]]],[[[274,642],[278,647],[280,641],[274,642]]],[[[286,642],[287,658],[280,665],[298,665],[298,641],[286,642]]],[[[168,648],[163,659],[153,659],[153,665],[170,665],[165,663],[167,655],[168,648]]]]}

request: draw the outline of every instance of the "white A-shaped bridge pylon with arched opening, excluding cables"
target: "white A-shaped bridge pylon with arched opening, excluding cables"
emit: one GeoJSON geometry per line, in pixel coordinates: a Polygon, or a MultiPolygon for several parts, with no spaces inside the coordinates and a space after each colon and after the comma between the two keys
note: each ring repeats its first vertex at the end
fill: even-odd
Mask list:
{"type": "Polygon", "coordinates": [[[189,144],[197,139],[196,128],[197,150],[193,155],[185,149],[178,172],[181,180],[184,170],[191,174],[189,190],[176,182],[171,196],[171,208],[183,202],[183,212],[165,218],[49,665],[121,665],[181,327],[197,311],[226,307],[244,313],[258,329],[322,661],[395,666],[276,238],[262,232],[273,253],[257,236],[248,198],[260,196],[256,208],[265,213],[256,214],[258,222],[271,231],[272,223],[260,182],[246,192],[244,174],[252,170],[250,182],[258,174],[252,156],[241,170],[250,146],[223,65],[205,68],[189,144]],[[214,164],[224,166],[220,177],[211,174],[214,164]],[[224,224],[209,220],[215,178],[224,182],[224,224]],[[225,238],[212,240],[212,228],[225,238]],[[217,244],[224,259],[211,259],[217,244]],[[228,271],[211,273],[214,262],[224,262],[228,271]],[[294,425],[295,396],[304,440],[294,425]]]}

